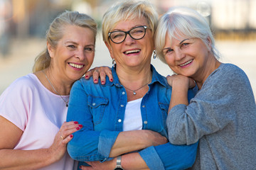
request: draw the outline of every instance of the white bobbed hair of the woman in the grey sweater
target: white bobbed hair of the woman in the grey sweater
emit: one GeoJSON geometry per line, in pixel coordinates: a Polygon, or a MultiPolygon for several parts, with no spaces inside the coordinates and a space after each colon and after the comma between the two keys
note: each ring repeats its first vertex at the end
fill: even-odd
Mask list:
{"type": "Polygon", "coordinates": [[[166,63],[164,59],[164,45],[166,42],[166,34],[169,35],[170,40],[185,35],[188,38],[199,38],[208,47],[208,38],[210,38],[211,46],[210,50],[216,59],[220,58],[220,53],[215,47],[215,40],[210,30],[208,22],[201,14],[194,11],[191,8],[186,7],[174,7],[167,13],[165,13],[159,19],[159,24],[155,34],[155,47],[159,59],[166,63]]]}

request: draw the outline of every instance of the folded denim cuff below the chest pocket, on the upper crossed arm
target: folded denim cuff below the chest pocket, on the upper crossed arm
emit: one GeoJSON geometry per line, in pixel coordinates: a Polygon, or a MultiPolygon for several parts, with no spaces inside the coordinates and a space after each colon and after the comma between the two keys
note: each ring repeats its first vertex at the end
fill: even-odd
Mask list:
{"type": "Polygon", "coordinates": [[[119,132],[117,131],[102,130],[102,132],[100,132],[98,152],[105,157],[105,160],[110,156],[110,151],[118,135],[119,132]]]}

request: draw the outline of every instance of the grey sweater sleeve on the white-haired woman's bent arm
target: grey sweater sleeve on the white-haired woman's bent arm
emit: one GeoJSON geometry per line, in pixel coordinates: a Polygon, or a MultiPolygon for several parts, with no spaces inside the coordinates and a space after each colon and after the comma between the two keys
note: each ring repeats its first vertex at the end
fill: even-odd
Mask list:
{"type": "Polygon", "coordinates": [[[246,107],[253,98],[250,82],[234,65],[222,65],[215,70],[186,105],[169,111],[166,124],[169,141],[175,145],[191,145],[203,135],[222,130],[237,119],[239,107],[246,107]]]}

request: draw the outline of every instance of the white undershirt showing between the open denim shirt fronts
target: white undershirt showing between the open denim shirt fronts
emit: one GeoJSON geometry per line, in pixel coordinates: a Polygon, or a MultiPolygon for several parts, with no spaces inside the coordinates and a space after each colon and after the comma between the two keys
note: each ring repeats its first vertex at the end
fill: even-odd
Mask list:
{"type": "Polygon", "coordinates": [[[142,98],[129,101],[125,108],[123,130],[142,130],[142,98]]]}

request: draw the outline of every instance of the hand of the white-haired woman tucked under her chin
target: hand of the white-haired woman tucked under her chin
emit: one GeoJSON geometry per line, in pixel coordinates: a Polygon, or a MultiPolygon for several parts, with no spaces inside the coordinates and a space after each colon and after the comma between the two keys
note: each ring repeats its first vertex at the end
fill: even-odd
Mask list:
{"type": "Polygon", "coordinates": [[[186,85],[188,89],[196,86],[196,83],[193,79],[185,77],[181,74],[173,74],[171,76],[167,76],[166,79],[170,86],[174,86],[174,84],[182,84],[183,86],[186,85]]]}

